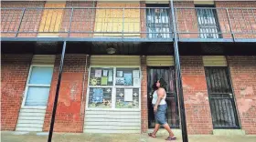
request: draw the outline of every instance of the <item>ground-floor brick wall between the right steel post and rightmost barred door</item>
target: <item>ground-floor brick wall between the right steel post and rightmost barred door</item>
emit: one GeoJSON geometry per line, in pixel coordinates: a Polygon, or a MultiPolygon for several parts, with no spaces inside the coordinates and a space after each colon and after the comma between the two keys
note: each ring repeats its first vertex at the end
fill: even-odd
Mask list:
{"type": "Polygon", "coordinates": [[[211,134],[212,119],[202,56],[181,56],[188,134],[211,134]]]}

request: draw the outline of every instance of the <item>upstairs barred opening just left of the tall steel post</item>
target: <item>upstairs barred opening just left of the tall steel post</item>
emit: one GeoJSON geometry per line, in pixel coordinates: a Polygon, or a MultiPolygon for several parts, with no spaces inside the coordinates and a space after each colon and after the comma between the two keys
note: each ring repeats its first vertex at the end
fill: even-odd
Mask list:
{"type": "Polygon", "coordinates": [[[170,16],[168,5],[146,5],[146,27],[148,38],[170,38],[170,16]],[[163,8],[161,8],[163,7],[163,8]]]}

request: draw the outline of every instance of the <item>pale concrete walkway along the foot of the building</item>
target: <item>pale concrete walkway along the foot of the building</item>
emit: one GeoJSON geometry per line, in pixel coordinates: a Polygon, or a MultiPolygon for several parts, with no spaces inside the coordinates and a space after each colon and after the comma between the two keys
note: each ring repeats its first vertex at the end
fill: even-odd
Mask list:
{"type": "MultiPolygon", "coordinates": [[[[54,133],[52,142],[165,142],[166,136],[157,138],[147,137],[146,134],[57,134],[54,133]]],[[[177,136],[176,142],[182,142],[177,136]]],[[[256,136],[189,136],[189,142],[256,142],[256,136]]],[[[1,132],[2,142],[47,142],[47,133],[21,134],[17,132],[1,132]]]]}

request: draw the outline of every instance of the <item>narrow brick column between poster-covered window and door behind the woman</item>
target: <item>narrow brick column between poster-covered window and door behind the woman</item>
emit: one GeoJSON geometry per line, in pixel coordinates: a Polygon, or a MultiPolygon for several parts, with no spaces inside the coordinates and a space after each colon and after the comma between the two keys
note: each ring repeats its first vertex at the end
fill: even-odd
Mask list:
{"type": "Polygon", "coordinates": [[[142,92],[141,92],[141,113],[142,113],[142,133],[145,133],[148,128],[148,114],[147,114],[147,72],[146,72],[146,57],[141,56],[142,68],[142,92]]]}

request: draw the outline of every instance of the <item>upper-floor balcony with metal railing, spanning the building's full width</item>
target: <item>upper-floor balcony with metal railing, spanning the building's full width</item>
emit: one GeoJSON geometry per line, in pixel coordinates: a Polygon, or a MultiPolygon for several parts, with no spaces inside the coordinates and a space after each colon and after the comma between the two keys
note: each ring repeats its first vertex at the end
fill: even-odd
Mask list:
{"type": "Polygon", "coordinates": [[[1,8],[2,40],[256,42],[256,8],[1,8]]]}

